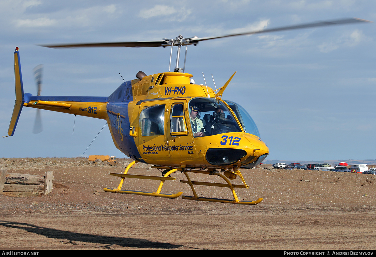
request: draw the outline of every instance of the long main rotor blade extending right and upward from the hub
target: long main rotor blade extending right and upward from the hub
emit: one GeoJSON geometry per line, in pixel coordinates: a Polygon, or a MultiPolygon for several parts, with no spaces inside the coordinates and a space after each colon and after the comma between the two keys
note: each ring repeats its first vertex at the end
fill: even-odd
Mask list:
{"type": "Polygon", "coordinates": [[[330,25],[341,25],[341,24],[349,24],[349,23],[357,23],[357,22],[372,22],[372,21],[367,21],[365,19],[359,19],[359,18],[337,19],[334,21],[318,21],[318,22],[312,22],[312,23],[306,23],[306,24],[300,24],[300,25],[292,25],[292,26],[287,26],[287,27],[270,28],[268,30],[256,30],[256,31],[249,31],[249,32],[243,32],[243,33],[237,33],[237,34],[214,36],[214,37],[192,38],[190,39],[190,42],[200,42],[204,40],[217,39],[217,38],[223,38],[223,37],[268,33],[268,32],[274,32],[274,31],[282,31],[282,30],[296,30],[300,28],[314,28],[314,27],[322,27],[322,26],[330,26],[330,25]]]}

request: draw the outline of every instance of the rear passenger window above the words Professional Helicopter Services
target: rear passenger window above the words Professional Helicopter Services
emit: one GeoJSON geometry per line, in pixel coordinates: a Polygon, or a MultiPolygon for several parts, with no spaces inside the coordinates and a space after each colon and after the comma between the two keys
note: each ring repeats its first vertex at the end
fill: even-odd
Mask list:
{"type": "Polygon", "coordinates": [[[164,135],[165,105],[145,108],[139,118],[142,136],[164,135]]]}

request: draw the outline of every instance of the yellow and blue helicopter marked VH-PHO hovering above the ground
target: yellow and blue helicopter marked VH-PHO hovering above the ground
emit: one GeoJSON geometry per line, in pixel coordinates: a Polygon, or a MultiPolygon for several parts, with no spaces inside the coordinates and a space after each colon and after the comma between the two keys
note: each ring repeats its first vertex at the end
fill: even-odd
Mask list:
{"type": "Polygon", "coordinates": [[[180,182],[189,184],[193,192],[193,196],[182,196],[183,199],[255,205],[262,198],[245,201],[240,200],[235,193],[237,187],[248,188],[239,167],[257,166],[267,157],[269,149],[260,139],[256,124],[247,111],[237,103],[221,99],[235,73],[223,87],[215,90],[195,84],[191,79],[193,75],[185,73],[185,61],[183,68],[179,68],[181,46],[197,45],[200,41],[223,37],[354,22],[367,21],[357,18],[341,19],[203,38],[184,38],[179,35],[175,39],[158,41],[44,45],[51,48],[171,46],[168,72],[148,76],[140,71],[136,74],[136,79],[124,82],[108,97],[39,96],[39,90],[37,96],[24,93],[20,53],[16,47],[16,102],[8,136],[13,136],[23,107],[103,119],[107,121],[115,146],[134,160],[123,173],[110,173],[120,177],[121,181],[117,188],[104,188],[104,191],[177,198],[183,192],[166,194],[161,191],[166,180],[176,179],[170,175],[180,172],[186,176],[186,180],[180,182]],[[173,46],[177,46],[176,66],[170,72],[173,46]],[[162,176],[128,174],[130,167],[138,162],[162,169],[162,176]],[[217,175],[226,183],[191,181],[189,173],[217,175]],[[232,184],[231,180],[238,176],[243,185],[232,184]],[[155,192],[123,190],[123,182],[127,178],[155,179],[161,182],[155,192]],[[194,185],[228,187],[233,199],[199,197],[194,185]]]}

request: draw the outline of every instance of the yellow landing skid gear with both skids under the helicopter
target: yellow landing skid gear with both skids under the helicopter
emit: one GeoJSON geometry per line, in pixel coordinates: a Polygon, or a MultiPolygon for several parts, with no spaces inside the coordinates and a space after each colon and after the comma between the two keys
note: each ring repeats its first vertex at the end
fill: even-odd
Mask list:
{"type": "MultiPolygon", "coordinates": [[[[237,194],[235,193],[234,188],[248,188],[246,182],[244,181],[243,176],[241,175],[239,170],[234,171],[236,175],[240,176],[241,180],[243,181],[244,185],[236,185],[232,184],[230,182],[230,179],[227,178],[225,175],[223,175],[220,172],[217,171],[206,171],[206,170],[193,170],[193,169],[183,169],[183,168],[174,168],[169,170],[167,173],[164,174],[163,177],[161,176],[147,176],[147,175],[132,175],[132,174],[127,174],[128,170],[130,167],[132,167],[135,163],[138,163],[138,161],[133,161],[130,163],[127,168],[125,169],[124,173],[110,173],[112,176],[118,176],[121,178],[121,181],[116,189],[114,188],[103,188],[103,191],[105,192],[111,192],[111,193],[120,193],[120,194],[138,194],[142,196],[155,196],[155,197],[165,197],[165,198],[177,198],[183,194],[183,192],[177,192],[175,194],[163,194],[161,193],[163,183],[166,180],[174,180],[176,178],[171,178],[169,177],[170,174],[180,171],[183,172],[184,175],[186,176],[187,180],[180,180],[182,183],[189,184],[193,193],[193,196],[182,196],[183,199],[186,200],[196,200],[196,201],[206,201],[206,202],[220,202],[220,203],[234,203],[234,204],[244,204],[244,205],[256,205],[262,201],[262,198],[259,198],[256,201],[243,201],[239,200],[237,194]],[[202,174],[207,174],[207,175],[217,175],[223,178],[226,183],[212,183],[212,182],[200,182],[200,181],[191,181],[188,172],[192,173],[202,173],[202,174]],[[138,179],[154,179],[154,180],[160,180],[160,184],[158,189],[155,192],[145,192],[145,191],[134,191],[134,190],[122,190],[121,187],[123,186],[123,182],[125,178],[138,178],[138,179]],[[220,199],[220,198],[209,198],[209,197],[198,197],[196,191],[194,190],[193,185],[206,185],[210,187],[228,187],[230,188],[232,194],[233,194],[233,199],[220,199]]],[[[156,167],[156,166],[153,166],[156,167]]],[[[161,167],[156,167],[156,168],[161,168],[161,167]]],[[[163,168],[168,168],[168,167],[163,167],[163,168]]],[[[235,176],[236,177],[236,176],[235,176]]]]}

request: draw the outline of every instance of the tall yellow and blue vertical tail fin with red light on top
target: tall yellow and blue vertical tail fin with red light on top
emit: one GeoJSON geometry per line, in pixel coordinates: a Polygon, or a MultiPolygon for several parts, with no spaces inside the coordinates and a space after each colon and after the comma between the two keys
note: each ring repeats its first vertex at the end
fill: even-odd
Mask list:
{"type": "Polygon", "coordinates": [[[20,52],[18,52],[18,47],[16,47],[16,51],[14,51],[14,80],[16,88],[16,102],[13,108],[11,123],[9,124],[8,136],[13,136],[17,126],[18,118],[20,118],[22,106],[24,104],[20,52]]]}

